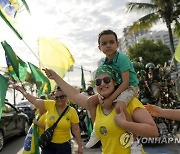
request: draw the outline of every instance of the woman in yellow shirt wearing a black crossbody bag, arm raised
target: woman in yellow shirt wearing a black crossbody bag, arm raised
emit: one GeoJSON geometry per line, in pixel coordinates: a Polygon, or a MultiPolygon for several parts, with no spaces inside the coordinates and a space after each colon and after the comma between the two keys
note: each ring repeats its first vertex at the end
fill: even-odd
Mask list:
{"type": "MultiPolygon", "coordinates": [[[[23,87],[13,85],[20,91],[26,99],[35,105],[41,112],[46,112],[45,129],[51,127],[67,107],[68,98],[64,92],[57,88],[54,92],[55,100],[43,100],[30,95],[23,87]]],[[[71,154],[71,131],[76,138],[78,144],[78,154],[82,154],[82,143],[79,128],[79,118],[73,107],[68,108],[61,120],[58,122],[52,140],[45,148],[42,148],[42,154],[71,154]]]]}

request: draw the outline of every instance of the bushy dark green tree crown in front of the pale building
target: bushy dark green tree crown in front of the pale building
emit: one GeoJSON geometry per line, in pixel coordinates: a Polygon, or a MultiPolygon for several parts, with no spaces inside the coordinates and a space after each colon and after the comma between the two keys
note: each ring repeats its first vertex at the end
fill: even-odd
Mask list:
{"type": "Polygon", "coordinates": [[[135,43],[132,47],[128,47],[127,54],[134,62],[139,61],[142,57],[142,63],[145,65],[149,62],[155,65],[164,65],[165,62],[170,60],[170,49],[161,41],[154,42],[153,40],[142,39],[139,43],[135,43]]]}

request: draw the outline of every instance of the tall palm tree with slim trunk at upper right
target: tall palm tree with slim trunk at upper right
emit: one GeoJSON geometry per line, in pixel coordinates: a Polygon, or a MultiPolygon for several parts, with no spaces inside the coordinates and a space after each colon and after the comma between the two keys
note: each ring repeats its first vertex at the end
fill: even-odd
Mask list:
{"type": "MultiPolygon", "coordinates": [[[[150,0],[150,3],[127,3],[128,12],[131,11],[149,11],[149,14],[141,17],[133,23],[129,32],[135,32],[141,29],[148,30],[153,24],[159,21],[165,22],[170,39],[171,55],[173,57],[175,47],[173,43],[172,24],[174,25],[174,32],[180,36],[180,0],[150,0]]],[[[174,60],[175,68],[176,61],[174,60]]]]}

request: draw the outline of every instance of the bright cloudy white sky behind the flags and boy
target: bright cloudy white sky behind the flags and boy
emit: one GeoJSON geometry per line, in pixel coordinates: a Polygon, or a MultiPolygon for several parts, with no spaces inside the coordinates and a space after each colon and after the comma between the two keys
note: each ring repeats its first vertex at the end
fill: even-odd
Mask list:
{"type": "MultiPolygon", "coordinates": [[[[132,25],[133,21],[143,15],[143,13],[127,13],[127,0],[26,0],[26,2],[31,14],[23,10],[16,17],[16,29],[23,35],[23,41],[16,37],[2,19],[0,19],[0,41],[6,40],[23,61],[38,66],[38,38],[59,40],[69,48],[75,59],[74,71],[67,73],[64,79],[76,86],[81,84],[81,72],[78,68],[82,65],[87,70],[84,71],[87,84],[92,79],[91,72],[104,57],[98,49],[98,34],[104,29],[111,29],[118,37],[122,37],[123,28],[132,25]]],[[[5,66],[4,50],[0,46],[0,67],[5,66]]]]}

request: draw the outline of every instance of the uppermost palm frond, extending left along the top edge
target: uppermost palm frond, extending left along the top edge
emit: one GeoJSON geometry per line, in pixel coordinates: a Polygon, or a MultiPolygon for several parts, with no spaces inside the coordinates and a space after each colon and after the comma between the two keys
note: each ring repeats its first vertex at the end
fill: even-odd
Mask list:
{"type": "Polygon", "coordinates": [[[127,12],[131,11],[144,11],[144,10],[156,10],[157,6],[151,3],[127,3],[127,12]]]}

